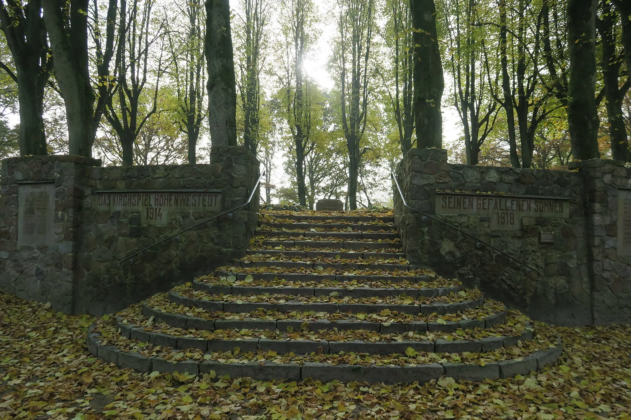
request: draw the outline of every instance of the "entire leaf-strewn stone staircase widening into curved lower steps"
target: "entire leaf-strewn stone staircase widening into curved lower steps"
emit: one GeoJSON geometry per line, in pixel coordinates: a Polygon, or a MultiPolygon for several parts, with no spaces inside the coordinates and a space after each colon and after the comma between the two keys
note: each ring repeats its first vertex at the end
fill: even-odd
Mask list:
{"type": "Polygon", "coordinates": [[[411,266],[391,213],[262,212],[245,258],[90,327],[138,372],[428,382],[553,364],[553,331],[411,266]]]}

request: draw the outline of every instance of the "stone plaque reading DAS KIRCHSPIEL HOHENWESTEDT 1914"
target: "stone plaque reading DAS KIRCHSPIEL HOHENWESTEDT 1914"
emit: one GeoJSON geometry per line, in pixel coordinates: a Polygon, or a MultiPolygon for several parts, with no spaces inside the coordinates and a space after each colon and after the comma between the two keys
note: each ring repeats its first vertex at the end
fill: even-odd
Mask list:
{"type": "Polygon", "coordinates": [[[97,191],[98,210],[132,210],[143,225],[166,225],[172,210],[215,212],[221,210],[221,191],[141,190],[97,191]]]}

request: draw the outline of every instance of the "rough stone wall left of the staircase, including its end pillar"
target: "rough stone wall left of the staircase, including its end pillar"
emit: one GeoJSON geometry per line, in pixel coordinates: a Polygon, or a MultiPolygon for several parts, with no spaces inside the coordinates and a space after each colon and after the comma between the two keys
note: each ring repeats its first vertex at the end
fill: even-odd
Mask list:
{"type": "Polygon", "coordinates": [[[223,210],[247,200],[259,164],[243,147],[213,148],[209,164],[102,167],[78,156],[3,161],[0,196],[0,289],[50,302],[67,313],[105,314],[245,254],[257,222],[251,205],[123,258],[219,212],[171,211],[166,225],[141,225],[138,211],[99,210],[99,190],[221,190],[223,210]],[[56,185],[55,244],[18,246],[21,181],[56,185]]]}

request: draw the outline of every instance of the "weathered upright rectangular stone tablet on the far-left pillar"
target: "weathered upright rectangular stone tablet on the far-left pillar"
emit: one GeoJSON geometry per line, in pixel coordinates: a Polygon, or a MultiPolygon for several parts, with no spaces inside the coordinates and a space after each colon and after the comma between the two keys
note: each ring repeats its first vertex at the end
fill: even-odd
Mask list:
{"type": "Polygon", "coordinates": [[[55,184],[18,185],[18,245],[52,245],[55,184]]]}

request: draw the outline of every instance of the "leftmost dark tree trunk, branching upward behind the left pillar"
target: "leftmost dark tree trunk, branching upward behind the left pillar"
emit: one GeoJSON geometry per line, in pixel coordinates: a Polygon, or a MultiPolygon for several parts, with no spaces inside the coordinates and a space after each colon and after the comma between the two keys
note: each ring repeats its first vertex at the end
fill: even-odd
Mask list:
{"type": "Polygon", "coordinates": [[[2,68],[18,85],[21,156],[45,155],[44,89],[52,70],[40,0],[0,3],[0,28],[13,56],[16,74],[2,68]]]}

